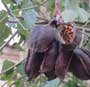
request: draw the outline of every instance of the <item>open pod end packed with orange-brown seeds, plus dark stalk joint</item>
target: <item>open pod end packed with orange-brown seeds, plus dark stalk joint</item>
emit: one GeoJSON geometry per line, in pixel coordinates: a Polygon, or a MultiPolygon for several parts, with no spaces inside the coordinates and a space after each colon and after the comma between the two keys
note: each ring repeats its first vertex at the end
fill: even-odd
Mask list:
{"type": "Polygon", "coordinates": [[[70,23],[59,23],[57,24],[58,20],[51,20],[50,21],[50,26],[52,28],[56,28],[57,35],[58,35],[58,40],[62,44],[71,44],[76,36],[76,29],[74,26],[70,23]]]}

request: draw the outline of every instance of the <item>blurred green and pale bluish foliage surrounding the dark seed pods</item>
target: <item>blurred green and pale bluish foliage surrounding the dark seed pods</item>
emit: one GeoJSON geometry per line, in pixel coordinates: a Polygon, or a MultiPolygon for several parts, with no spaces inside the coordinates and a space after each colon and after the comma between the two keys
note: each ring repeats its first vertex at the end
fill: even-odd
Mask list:
{"type": "MultiPolygon", "coordinates": [[[[19,36],[21,36],[19,43],[16,47],[19,48],[20,44],[26,41],[28,32],[35,24],[36,16],[40,12],[40,6],[44,6],[47,10],[45,15],[52,18],[54,11],[53,0],[2,0],[6,10],[0,11],[0,46],[5,44],[5,39],[11,34],[12,29],[17,29],[19,36]],[[48,15],[49,14],[49,15],[48,15]]],[[[59,0],[60,8],[65,22],[72,22],[78,26],[85,25],[86,28],[90,28],[90,1],[89,0],[59,0]],[[86,2],[87,1],[87,2],[86,2]]],[[[42,15],[43,17],[43,15],[42,15]]],[[[88,30],[90,32],[90,29],[88,30]]],[[[82,46],[90,49],[89,37],[84,36],[82,46]]],[[[0,49],[1,50],[1,49],[0,49]]],[[[14,63],[5,61],[3,69],[6,70],[13,66],[14,63]]],[[[10,85],[12,81],[16,87],[44,87],[46,84],[46,78],[41,77],[31,82],[26,81],[24,72],[24,64],[21,62],[16,68],[12,68],[6,73],[0,75],[2,80],[7,80],[7,84],[10,85]],[[9,78],[10,77],[10,78],[9,78]]],[[[56,83],[54,81],[53,83],[56,83]]],[[[49,82],[48,82],[49,83],[49,82]]],[[[73,77],[65,85],[65,87],[77,87],[77,83],[82,84],[80,81],[76,81],[73,77]]],[[[51,85],[51,83],[49,83],[51,85]]],[[[59,82],[57,82],[59,84],[59,82]]],[[[45,87],[49,87],[46,85],[45,87]]],[[[55,86],[54,86],[55,87],[55,86]]],[[[56,85],[56,87],[59,87],[56,85]]]]}

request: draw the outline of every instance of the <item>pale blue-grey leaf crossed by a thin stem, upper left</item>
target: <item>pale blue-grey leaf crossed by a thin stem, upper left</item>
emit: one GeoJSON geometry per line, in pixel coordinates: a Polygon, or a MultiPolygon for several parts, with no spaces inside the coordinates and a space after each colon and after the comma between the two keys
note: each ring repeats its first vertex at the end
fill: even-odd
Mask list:
{"type": "MultiPolygon", "coordinates": [[[[23,8],[30,8],[32,2],[30,0],[25,0],[22,5],[23,8]]],[[[22,17],[24,18],[24,24],[27,29],[32,29],[36,21],[37,12],[34,9],[28,9],[22,11],[22,17]]]]}

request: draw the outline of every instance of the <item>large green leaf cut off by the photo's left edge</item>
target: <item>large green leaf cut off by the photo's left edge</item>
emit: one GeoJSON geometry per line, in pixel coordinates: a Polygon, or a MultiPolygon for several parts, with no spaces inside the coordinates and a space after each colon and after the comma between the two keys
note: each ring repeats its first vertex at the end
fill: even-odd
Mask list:
{"type": "Polygon", "coordinates": [[[0,46],[4,43],[4,40],[9,36],[10,29],[6,25],[8,17],[6,11],[0,11],[0,46]]]}

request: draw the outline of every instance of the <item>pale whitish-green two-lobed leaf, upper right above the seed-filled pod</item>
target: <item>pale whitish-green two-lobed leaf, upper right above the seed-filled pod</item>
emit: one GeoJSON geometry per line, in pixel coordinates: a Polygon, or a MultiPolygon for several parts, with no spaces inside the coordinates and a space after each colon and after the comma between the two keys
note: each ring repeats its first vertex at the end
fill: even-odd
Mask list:
{"type": "Polygon", "coordinates": [[[90,14],[80,7],[77,7],[74,10],[65,9],[62,12],[62,16],[65,22],[73,22],[77,19],[78,21],[84,23],[90,18],[90,14]]]}

